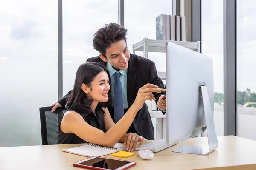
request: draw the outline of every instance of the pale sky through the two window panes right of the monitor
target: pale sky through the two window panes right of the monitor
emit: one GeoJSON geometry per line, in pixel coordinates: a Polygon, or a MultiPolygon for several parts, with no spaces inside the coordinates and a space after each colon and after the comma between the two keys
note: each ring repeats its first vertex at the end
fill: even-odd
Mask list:
{"type": "MultiPolygon", "coordinates": [[[[202,0],[202,53],[213,59],[214,89],[223,93],[223,1],[202,0]]],[[[237,0],[237,89],[256,92],[256,1],[237,0]]],[[[228,31],[228,30],[227,30],[228,31]]]]}

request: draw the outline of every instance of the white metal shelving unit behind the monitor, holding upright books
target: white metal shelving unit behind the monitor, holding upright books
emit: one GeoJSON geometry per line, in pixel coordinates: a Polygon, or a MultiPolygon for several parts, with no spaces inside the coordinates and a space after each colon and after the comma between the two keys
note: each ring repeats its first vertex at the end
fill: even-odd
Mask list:
{"type": "MultiPolygon", "coordinates": [[[[143,57],[148,58],[148,52],[166,52],[166,42],[173,42],[177,45],[181,45],[185,48],[200,52],[200,41],[190,42],[190,41],[171,41],[171,40],[153,40],[148,38],[143,38],[140,42],[132,45],[133,54],[135,51],[143,51],[143,57]]],[[[157,72],[158,77],[162,80],[166,80],[166,72],[157,72]]],[[[163,115],[161,111],[152,111],[151,103],[147,102],[148,110],[151,118],[156,118],[157,120],[157,139],[166,138],[166,115],[163,115]]]]}

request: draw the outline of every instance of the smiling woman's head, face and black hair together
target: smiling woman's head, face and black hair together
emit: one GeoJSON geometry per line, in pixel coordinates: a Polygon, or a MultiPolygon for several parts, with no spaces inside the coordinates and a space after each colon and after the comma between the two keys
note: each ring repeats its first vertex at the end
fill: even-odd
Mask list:
{"type": "Polygon", "coordinates": [[[87,112],[99,103],[99,107],[112,104],[112,92],[110,88],[108,70],[96,62],[82,64],[76,73],[74,88],[67,98],[67,109],[75,109],[79,112],[87,112]]]}

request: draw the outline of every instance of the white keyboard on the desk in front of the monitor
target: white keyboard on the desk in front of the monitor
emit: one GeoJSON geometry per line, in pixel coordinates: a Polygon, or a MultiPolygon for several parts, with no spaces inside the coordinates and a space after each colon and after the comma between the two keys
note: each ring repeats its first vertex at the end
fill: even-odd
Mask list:
{"type": "Polygon", "coordinates": [[[158,152],[160,150],[170,147],[166,143],[166,139],[155,140],[154,142],[143,144],[140,147],[135,147],[134,150],[152,150],[152,152],[158,152]]]}

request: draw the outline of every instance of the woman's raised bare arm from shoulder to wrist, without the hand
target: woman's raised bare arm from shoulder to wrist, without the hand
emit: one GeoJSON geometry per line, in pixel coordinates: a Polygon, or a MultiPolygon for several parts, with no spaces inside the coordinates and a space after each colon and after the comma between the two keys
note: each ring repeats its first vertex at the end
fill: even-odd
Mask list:
{"type": "Polygon", "coordinates": [[[106,133],[89,125],[79,113],[74,111],[64,114],[60,128],[64,133],[75,133],[87,142],[113,147],[127,132],[138,111],[136,108],[130,108],[130,110],[129,114],[125,114],[106,133]]]}

